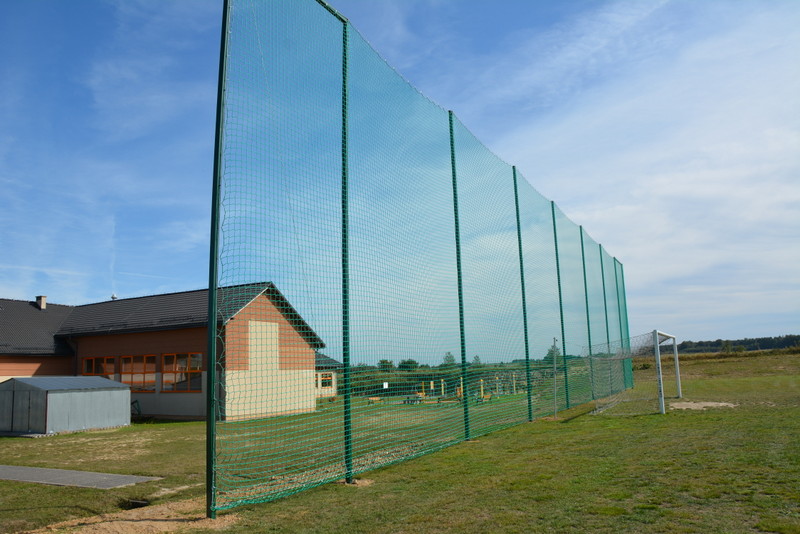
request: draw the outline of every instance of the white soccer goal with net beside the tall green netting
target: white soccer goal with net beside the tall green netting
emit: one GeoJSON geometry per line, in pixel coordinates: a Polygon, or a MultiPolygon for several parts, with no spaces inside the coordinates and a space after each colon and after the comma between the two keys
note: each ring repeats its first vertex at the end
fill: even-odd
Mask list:
{"type": "Polygon", "coordinates": [[[682,397],[678,344],[673,335],[653,330],[613,344],[594,345],[586,352],[595,402],[593,413],[663,414],[665,398],[682,397]],[[662,361],[662,346],[670,340],[672,361],[662,361]]]}

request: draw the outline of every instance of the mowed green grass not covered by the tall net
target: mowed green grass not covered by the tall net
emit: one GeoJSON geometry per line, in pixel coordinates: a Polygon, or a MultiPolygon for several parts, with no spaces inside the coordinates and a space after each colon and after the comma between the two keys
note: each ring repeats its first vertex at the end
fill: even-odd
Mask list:
{"type": "MultiPolygon", "coordinates": [[[[800,354],[693,356],[681,371],[683,400],[737,406],[567,412],[220,515],[238,516],[231,532],[800,532],[800,354]]],[[[0,482],[0,531],[202,495],[203,429],[0,438],[0,463],[165,476],[107,491],[0,482]]]]}

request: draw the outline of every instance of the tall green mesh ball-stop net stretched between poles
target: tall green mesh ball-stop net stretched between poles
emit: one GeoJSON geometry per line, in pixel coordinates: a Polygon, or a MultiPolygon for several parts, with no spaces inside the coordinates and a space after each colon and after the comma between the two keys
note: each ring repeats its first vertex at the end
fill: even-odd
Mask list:
{"type": "Polygon", "coordinates": [[[324,2],[225,17],[209,510],[595,398],[622,265],[324,2]]]}

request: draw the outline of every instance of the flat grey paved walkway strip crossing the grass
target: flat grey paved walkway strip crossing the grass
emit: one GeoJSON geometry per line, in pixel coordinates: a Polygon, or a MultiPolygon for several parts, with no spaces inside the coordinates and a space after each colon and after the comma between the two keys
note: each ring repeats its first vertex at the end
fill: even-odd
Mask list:
{"type": "Polygon", "coordinates": [[[0,480],[35,482],[54,486],[111,489],[130,486],[138,484],[139,482],[161,480],[161,478],[112,475],[109,473],[93,473],[91,471],[68,471],[66,469],[44,469],[41,467],[20,467],[17,465],[0,465],[0,480]]]}

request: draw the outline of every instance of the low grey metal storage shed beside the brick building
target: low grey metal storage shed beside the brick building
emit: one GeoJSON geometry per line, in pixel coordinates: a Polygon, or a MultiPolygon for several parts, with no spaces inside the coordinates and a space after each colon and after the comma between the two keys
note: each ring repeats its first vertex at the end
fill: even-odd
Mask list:
{"type": "Polygon", "coordinates": [[[131,423],[130,386],[102,376],[0,382],[0,431],[55,434],[131,423]]]}

